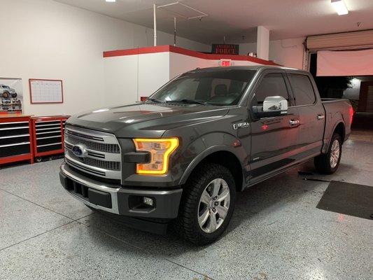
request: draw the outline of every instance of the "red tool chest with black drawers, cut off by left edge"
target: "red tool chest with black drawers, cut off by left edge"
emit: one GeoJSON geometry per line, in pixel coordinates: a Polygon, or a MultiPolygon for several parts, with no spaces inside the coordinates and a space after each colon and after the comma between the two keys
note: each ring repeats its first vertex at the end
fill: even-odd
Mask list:
{"type": "Polygon", "coordinates": [[[33,163],[32,141],[29,116],[0,115],[0,165],[22,160],[33,163]]]}

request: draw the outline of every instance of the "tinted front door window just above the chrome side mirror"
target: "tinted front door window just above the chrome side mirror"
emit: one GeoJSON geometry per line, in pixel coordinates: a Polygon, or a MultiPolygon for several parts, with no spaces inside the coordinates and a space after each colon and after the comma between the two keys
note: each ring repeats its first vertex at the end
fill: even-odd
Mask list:
{"type": "Polygon", "coordinates": [[[258,104],[263,104],[265,97],[282,96],[288,100],[289,94],[286,88],[285,80],[281,73],[269,73],[262,78],[258,89],[255,91],[255,97],[258,104]]]}

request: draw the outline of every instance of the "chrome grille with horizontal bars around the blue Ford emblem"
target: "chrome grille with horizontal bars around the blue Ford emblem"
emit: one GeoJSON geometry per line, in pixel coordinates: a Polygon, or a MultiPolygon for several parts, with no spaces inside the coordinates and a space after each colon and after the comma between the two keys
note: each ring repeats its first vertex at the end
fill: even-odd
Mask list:
{"type": "Polygon", "coordinates": [[[120,146],[113,134],[66,125],[64,144],[65,161],[71,167],[106,179],[121,179],[120,146]],[[83,157],[74,155],[75,145],[83,148],[83,157]]]}

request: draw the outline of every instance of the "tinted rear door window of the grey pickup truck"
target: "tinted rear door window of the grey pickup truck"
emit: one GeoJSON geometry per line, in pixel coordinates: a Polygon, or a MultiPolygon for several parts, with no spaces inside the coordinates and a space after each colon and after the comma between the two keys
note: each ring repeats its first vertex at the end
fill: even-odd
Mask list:
{"type": "Polygon", "coordinates": [[[289,78],[293,88],[295,105],[314,104],[316,97],[309,77],[301,74],[290,74],[289,78]]]}

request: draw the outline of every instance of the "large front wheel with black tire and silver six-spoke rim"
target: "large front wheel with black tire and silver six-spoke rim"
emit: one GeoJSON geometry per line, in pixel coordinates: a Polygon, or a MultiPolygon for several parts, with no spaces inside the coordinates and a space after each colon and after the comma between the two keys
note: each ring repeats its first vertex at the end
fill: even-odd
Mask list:
{"type": "Polygon", "coordinates": [[[230,171],[222,165],[203,165],[185,185],[176,232],[197,245],[216,241],[230,223],[235,198],[230,171]]]}

